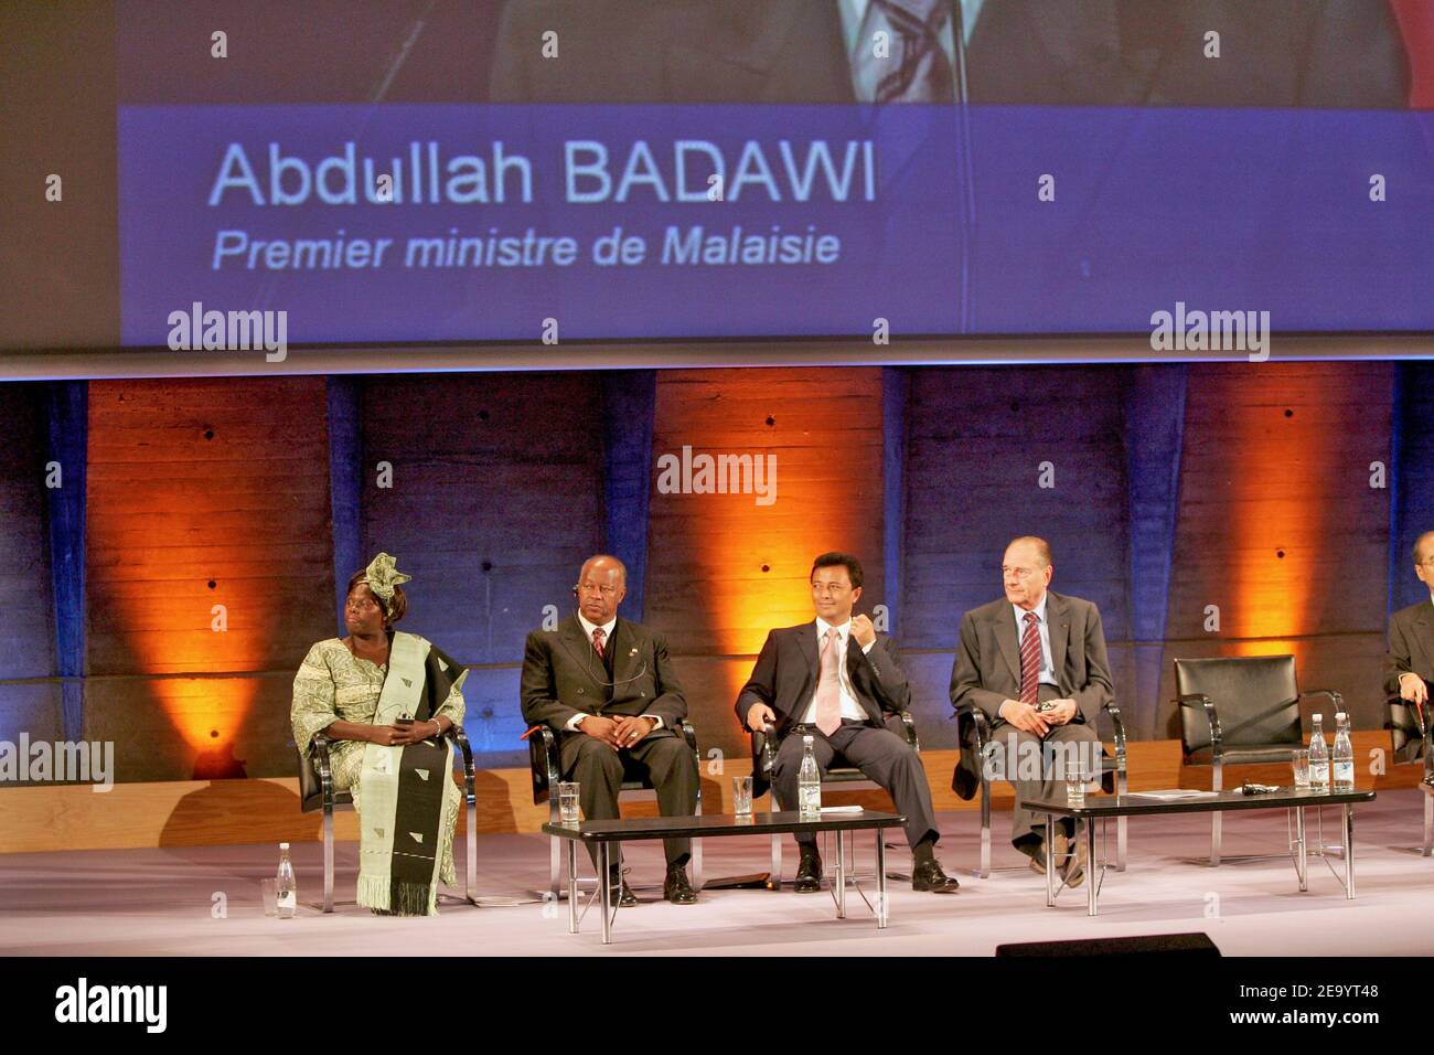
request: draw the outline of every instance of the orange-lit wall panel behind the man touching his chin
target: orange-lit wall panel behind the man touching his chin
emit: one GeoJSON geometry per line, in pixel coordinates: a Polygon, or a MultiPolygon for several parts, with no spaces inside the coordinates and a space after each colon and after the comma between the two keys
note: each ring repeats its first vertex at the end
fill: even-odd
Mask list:
{"type": "Polygon", "coordinates": [[[853,553],[859,609],[883,600],[882,376],[872,369],[667,370],[657,379],[647,622],[683,656],[731,656],[688,686],[713,745],[744,752],[731,706],[770,629],[813,619],[812,558],[853,553]],[[776,501],[663,494],[657,459],[774,455],[776,501]]]}

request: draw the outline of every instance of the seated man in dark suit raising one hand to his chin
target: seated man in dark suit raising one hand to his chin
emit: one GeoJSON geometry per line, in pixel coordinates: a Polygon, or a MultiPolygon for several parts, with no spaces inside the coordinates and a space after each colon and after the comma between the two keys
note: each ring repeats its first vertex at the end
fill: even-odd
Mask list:
{"type": "MultiPolygon", "coordinates": [[[[912,890],[954,893],[935,855],[936,814],[921,756],[886,728],[885,715],[911,705],[911,686],[896,646],[878,637],[872,620],[853,616],[862,596],[862,564],[845,553],[825,553],[812,566],[816,622],[773,630],[751,677],[737,696],[737,719],[749,729],[774,726],[779,739],[773,791],[787,810],[797,804],[803,736],[812,736],[817,769],[837,756],[886,788],[906,817],[913,868],[912,890]],[[793,735],[796,733],[796,735],[793,735]]],[[[802,861],[797,893],[822,888],[816,837],[797,835],[802,861]]]]}

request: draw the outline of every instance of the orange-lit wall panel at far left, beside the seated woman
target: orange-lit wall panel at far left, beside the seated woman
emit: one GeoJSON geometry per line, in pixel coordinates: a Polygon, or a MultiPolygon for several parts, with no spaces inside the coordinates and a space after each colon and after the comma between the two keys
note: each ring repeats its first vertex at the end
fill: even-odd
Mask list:
{"type": "Polygon", "coordinates": [[[323,379],[89,399],[86,736],[126,781],[291,774],[290,685],[333,627],[323,379]]]}

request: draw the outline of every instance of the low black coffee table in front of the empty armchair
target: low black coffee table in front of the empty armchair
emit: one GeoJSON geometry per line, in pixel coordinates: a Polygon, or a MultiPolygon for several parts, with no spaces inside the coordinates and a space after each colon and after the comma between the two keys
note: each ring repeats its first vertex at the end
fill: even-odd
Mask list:
{"type": "MultiPolygon", "coordinates": [[[[1344,850],[1345,874],[1335,877],[1345,890],[1345,897],[1354,897],[1354,805],[1372,802],[1372,791],[1308,791],[1281,788],[1268,795],[1242,795],[1239,791],[1205,792],[1199,798],[1160,800],[1130,792],[1126,795],[1087,795],[1084,805],[1070,805],[1060,800],[1031,800],[1025,804],[1032,812],[1045,814],[1045,904],[1055,904],[1054,845],[1051,843],[1057,817],[1074,817],[1077,824],[1086,824],[1086,913],[1097,914],[1100,904],[1100,880],[1096,871],[1096,821],[1107,817],[1144,817],[1149,814],[1207,814],[1228,810],[1289,810],[1295,814],[1295,841],[1291,857],[1299,888],[1309,890],[1309,868],[1305,853],[1305,810],[1309,807],[1344,807],[1344,824],[1339,825],[1339,843],[1344,850]]],[[[1321,847],[1321,851],[1324,848],[1321,847]]],[[[1334,866],[1331,866],[1334,870],[1334,866]]]]}

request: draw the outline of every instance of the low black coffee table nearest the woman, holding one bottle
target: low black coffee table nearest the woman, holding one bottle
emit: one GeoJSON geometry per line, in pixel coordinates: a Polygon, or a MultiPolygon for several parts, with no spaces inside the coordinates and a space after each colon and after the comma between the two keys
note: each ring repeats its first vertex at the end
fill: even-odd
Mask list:
{"type": "Polygon", "coordinates": [[[876,929],[886,927],[886,845],[885,828],[899,828],[906,822],[898,814],[862,812],[823,814],[819,821],[807,821],[799,812],[728,814],[703,817],[634,817],[618,821],[582,821],[569,828],[564,824],[542,825],[543,834],[568,840],[568,933],[578,933],[578,843],[598,847],[598,904],[602,909],[602,944],[612,944],[612,896],[602,881],[612,864],[612,845],[631,840],[652,838],[716,838],[720,835],[784,835],[799,831],[836,837],[836,917],[846,919],[846,833],[876,833],[876,929]]]}

